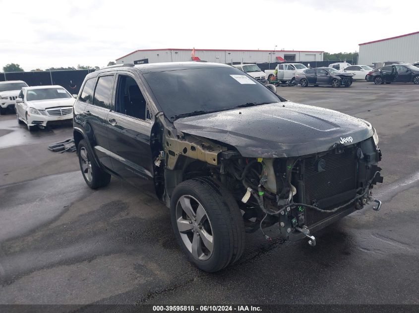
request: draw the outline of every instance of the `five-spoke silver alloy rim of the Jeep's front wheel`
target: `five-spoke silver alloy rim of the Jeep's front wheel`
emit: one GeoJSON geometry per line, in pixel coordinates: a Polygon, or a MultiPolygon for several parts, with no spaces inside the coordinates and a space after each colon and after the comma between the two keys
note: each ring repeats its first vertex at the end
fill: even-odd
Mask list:
{"type": "Polygon", "coordinates": [[[211,222],[204,207],[190,195],[182,195],[176,205],[180,238],[195,259],[208,260],[214,251],[211,222]]]}

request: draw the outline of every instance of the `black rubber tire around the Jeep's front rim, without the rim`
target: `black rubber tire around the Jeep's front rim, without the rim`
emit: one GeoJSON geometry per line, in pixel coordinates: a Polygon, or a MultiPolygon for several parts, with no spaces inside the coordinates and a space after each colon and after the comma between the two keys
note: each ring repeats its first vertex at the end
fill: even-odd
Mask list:
{"type": "MultiPolygon", "coordinates": [[[[189,261],[196,267],[215,272],[239,260],[244,250],[243,218],[233,196],[216,181],[210,178],[194,178],[181,182],[172,193],[170,210],[176,239],[189,261]],[[179,229],[180,220],[182,223],[185,221],[179,215],[179,206],[182,206],[181,199],[184,197],[193,199],[195,205],[198,203],[204,208],[206,219],[211,226],[213,245],[212,251],[207,251],[207,258],[201,254],[202,258],[194,256],[189,250],[192,249],[191,246],[186,246],[187,240],[190,240],[193,247],[193,236],[199,231],[199,227],[198,230],[179,229]]],[[[188,219],[187,216],[184,218],[188,219]]]]}

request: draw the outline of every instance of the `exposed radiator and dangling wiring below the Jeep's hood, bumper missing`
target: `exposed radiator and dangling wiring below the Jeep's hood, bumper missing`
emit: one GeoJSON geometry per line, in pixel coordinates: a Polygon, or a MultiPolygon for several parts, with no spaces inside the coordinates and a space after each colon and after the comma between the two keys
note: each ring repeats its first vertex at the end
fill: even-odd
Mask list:
{"type": "Polygon", "coordinates": [[[247,230],[278,223],[283,238],[308,237],[315,245],[312,232],[369,202],[379,210],[381,203],[371,189],[383,181],[380,160],[373,137],[293,158],[245,159],[226,151],[221,153],[220,176],[230,186],[241,182],[232,191],[241,198],[247,230]]]}

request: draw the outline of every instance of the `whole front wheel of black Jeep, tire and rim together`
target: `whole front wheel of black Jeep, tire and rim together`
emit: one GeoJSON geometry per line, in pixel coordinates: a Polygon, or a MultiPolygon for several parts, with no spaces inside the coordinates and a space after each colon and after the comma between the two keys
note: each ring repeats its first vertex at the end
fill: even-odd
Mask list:
{"type": "Polygon", "coordinates": [[[171,196],[170,210],[176,239],[195,266],[215,272],[239,260],[243,219],[233,196],[216,181],[181,182],[171,196]]]}

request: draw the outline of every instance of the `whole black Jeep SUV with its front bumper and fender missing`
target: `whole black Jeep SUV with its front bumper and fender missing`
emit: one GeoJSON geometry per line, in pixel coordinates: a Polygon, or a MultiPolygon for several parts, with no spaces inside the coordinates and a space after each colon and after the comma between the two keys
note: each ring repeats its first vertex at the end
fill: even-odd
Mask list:
{"type": "Polygon", "coordinates": [[[205,271],[236,262],[245,232],[277,224],[282,237],[315,245],[316,230],[381,204],[371,194],[381,152],[368,122],[287,101],[228,65],[90,73],[74,104],[74,140],[91,188],[111,175],[151,185],[205,271]]]}

